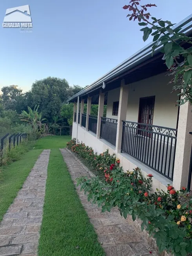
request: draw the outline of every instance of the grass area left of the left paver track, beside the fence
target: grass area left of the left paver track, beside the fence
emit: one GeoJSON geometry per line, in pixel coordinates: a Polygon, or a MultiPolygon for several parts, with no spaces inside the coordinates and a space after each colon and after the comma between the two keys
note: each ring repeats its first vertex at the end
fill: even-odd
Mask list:
{"type": "Polygon", "coordinates": [[[2,181],[0,182],[0,221],[13,202],[17,192],[33,168],[42,150],[31,150],[23,154],[20,160],[1,169],[2,181]]]}

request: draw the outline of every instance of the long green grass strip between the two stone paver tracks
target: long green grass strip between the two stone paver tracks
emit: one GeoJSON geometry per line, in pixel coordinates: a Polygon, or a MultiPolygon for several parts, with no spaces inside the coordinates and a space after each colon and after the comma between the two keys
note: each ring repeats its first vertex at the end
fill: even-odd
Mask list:
{"type": "Polygon", "coordinates": [[[38,256],[104,256],[59,149],[52,149],[38,256]]]}

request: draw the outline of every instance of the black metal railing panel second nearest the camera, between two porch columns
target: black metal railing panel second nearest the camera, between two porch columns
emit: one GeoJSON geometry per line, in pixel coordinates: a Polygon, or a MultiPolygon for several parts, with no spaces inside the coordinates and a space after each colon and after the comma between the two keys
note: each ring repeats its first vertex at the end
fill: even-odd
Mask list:
{"type": "Polygon", "coordinates": [[[117,119],[101,117],[100,138],[116,145],[117,119]]]}

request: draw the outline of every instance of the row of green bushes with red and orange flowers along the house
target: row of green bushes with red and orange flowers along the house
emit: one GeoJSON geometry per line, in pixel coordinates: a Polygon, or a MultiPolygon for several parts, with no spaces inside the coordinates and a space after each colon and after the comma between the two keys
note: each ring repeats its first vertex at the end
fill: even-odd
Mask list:
{"type": "Polygon", "coordinates": [[[105,177],[103,182],[98,177],[78,178],[88,200],[102,206],[102,212],[118,207],[124,218],[128,214],[133,220],[139,217],[143,221],[142,231],[145,228],[156,238],[160,252],[171,251],[175,256],[192,252],[192,196],[185,187],[175,191],[168,185],[167,191],[157,189],[152,193],[152,174],[143,178],[139,168],[125,173],[114,155],[106,151],[98,156],[85,144],[76,144],[75,139],[67,147],[105,177]]]}

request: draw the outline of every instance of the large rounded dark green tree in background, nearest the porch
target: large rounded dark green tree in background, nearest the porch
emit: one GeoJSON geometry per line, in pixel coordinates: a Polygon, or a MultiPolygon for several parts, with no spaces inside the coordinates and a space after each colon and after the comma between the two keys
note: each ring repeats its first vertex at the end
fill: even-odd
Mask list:
{"type": "Polygon", "coordinates": [[[39,105],[39,110],[49,121],[52,116],[60,112],[62,103],[69,97],[69,84],[65,79],[47,77],[36,80],[31,89],[34,105],[39,105]]]}

